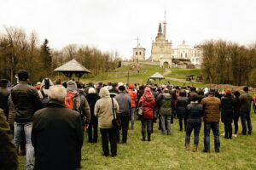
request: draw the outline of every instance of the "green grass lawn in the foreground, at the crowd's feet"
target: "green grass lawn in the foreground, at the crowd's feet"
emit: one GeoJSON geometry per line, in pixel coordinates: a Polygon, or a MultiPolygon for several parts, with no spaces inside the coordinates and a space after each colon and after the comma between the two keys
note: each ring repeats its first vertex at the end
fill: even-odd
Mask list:
{"type": "MultiPolygon", "coordinates": [[[[252,113],[253,127],[256,126],[256,115],[252,113]]],[[[178,122],[172,124],[172,135],[164,136],[154,124],[151,142],[141,141],[141,122],[135,122],[135,129],[128,132],[128,143],[118,144],[118,156],[102,156],[101,135],[97,144],[87,143],[87,133],[84,133],[82,151],[82,169],[87,170],[120,170],[120,169],[173,169],[173,170],[243,170],[256,169],[256,131],[253,135],[238,135],[237,138],[224,139],[220,137],[220,152],[215,153],[211,132],[211,152],[203,150],[203,125],[200,133],[199,151],[184,150],[184,132],[178,131],[178,122]]],[[[234,128],[234,127],[233,127],[234,128]]],[[[241,132],[241,125],[239,133],[241,132]]],[[[220,123],[220,133],[224,133],[224,124],[220,123]]],[[[191,144],[194,137],[191,135],[191,144]]],[[[25,156],[20,156],[20,170],[25,169],[25,156]]]]}

